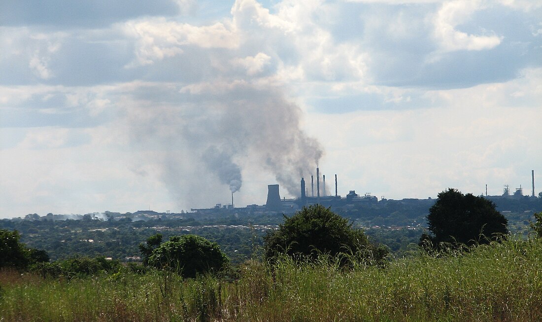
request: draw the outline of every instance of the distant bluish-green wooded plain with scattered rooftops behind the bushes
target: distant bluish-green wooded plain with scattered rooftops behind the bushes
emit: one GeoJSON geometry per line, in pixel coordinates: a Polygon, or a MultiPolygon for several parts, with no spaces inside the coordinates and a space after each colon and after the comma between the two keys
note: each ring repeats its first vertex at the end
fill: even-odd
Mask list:
{"type": "MultiPolygon", "coordinates": [[[[507,218],[512,234],[527,236],[529,221],[534,220],[533,213],[542,211],[542,198],[490,196],[488,199],[495,202],[496,209],[507,218]]],[[[435,201],[384,199],[378,203],[331,210],[353,222],[353,228],[363,228],[371,242],[384,244],[392,255],[400,257],[412,248],[412,243],[420,241],[423,228],[427,227],[429,208],[435,201]]],[[[145,218],[146,221],[132,221],[137,214],[129,212],[106,211],[103,220],[95,216],[60,220],[70,216],[29,214],[23,218],[0,220],[0,229],[17,230],[20,242],[28,248],[45,250],[51,260],[65,260],[80,254],[91,258],[105,256],[120,261],[138,261],[139,243],[154,234],[162,234],[164,240],[170,236],[195,234],[218,243],[231,263],[237,264],[256,256],[254,250],[263,245],[266,231],[283,223],[281,214],[248,208],[207,215],[198,212],[159,214],[158,217],[157,214],[145,218]]]]}

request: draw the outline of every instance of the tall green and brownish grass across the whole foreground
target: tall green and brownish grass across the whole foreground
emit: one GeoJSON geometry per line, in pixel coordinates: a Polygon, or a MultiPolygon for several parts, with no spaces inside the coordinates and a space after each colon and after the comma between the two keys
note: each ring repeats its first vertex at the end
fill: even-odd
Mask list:
{"type": "Polygon", "coordinates": [[[540,321],[542,241],[413,254],[385,268],[322,260],[240,278],[121,271],[87,279],[0,272],[0,321],[540,321]]]}

